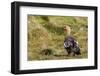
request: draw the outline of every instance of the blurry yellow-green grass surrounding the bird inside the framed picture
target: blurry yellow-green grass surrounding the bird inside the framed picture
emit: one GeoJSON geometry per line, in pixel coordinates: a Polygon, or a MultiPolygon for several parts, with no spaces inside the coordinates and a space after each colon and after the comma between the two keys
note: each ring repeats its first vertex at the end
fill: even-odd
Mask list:
{"type": "Polygon", "coordinates": [[[88,57],[87,17],[28,15],[28,60],[79,59],[88,57]],[[79,42],[80,56],[67,56],[64,49],[64,25],[79,42]]]}

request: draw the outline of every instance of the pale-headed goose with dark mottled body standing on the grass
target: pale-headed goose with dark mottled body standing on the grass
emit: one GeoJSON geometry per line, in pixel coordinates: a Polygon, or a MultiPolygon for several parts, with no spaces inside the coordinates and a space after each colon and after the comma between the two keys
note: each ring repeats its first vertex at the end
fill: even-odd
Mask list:
{"type": "Polygon", "coordinates": [[[68,55],[70,54],[72,54],[72,56],[81,55],[78,41],[73,36],[71,36],[70,26],[65,25],[64,30],[65,32],[67,32],[67,35],[64,40],[64,48],[66,49],[68,55]]]}

